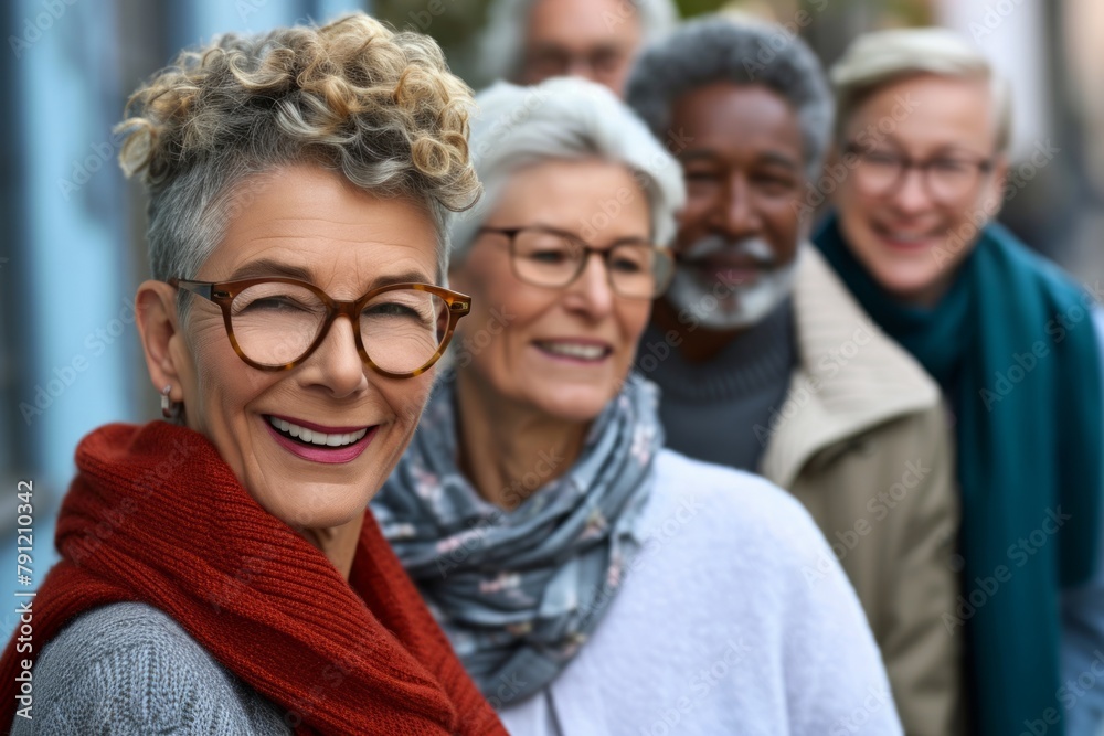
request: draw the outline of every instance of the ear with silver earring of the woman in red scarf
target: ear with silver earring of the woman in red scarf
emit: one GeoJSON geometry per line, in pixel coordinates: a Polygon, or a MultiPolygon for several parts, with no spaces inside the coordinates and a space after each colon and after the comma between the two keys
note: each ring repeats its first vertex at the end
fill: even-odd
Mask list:
{"type": "Polygon", "coordinates": [[[183,335],[177,320],[177,290],[164,281],[144,281],[135,297],[138,335],[141,338],[146,367],[158,393],[172,386],[169,401],[184,399],[184,380],[189,373],[183,335]]]}

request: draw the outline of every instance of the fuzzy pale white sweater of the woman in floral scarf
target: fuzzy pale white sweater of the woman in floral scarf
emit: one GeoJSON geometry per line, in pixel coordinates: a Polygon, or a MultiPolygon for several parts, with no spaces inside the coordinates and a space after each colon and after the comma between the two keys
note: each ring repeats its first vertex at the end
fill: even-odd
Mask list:
{"type": "Polygon", "coordinates": [[[901,734],[854,591],[789,494],[665,450],[645,525],[591,640],[501,713],[511,734],[901,734]]]}

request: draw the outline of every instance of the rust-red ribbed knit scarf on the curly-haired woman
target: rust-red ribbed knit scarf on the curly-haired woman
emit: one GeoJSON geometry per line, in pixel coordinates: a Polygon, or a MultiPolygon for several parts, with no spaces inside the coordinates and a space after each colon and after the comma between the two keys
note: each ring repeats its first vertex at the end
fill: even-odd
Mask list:
{"type": "Polygon", "coordinates": [[[297,733],[506,734],[371,514],[346,583],[190,429],[108,425],[82,440],[76,465],[57,520],[62,562],[33,599],[33,652],[17,654],[13,636],[0,659],[0,733],[20,660],[84,611],[139,601],[297,733]]]}

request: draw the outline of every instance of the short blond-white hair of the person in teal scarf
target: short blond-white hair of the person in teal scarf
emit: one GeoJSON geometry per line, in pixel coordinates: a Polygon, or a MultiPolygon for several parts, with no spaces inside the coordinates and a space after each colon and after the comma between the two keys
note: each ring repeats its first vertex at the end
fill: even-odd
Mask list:
{"type": "Polygon", "coordinates": [[[989,60],[960,35],[944,28],[875,31],[856,39],[831,67],[838,117],[836,139],[871,94],[902,78],[935,74],[989,83],[997,115],[997,151],[1006,152],[1012,135],[1011,90],[989,60]]]}

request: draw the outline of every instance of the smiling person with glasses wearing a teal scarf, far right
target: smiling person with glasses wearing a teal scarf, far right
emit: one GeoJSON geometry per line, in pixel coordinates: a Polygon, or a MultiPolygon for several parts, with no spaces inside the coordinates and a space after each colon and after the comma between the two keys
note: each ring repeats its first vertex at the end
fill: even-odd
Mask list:
{"type": "Polygon", "coordinates": [[[966,637],[969,733],[1097,733],[1104,320],[991,222],[1017,188],[985,56],[951,31],[884,31],[832,81],[848,175],[816,242],[955,415],[965,589],[944,622],[966,637]]]}

